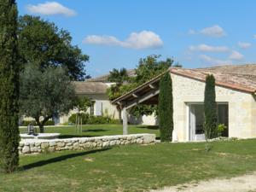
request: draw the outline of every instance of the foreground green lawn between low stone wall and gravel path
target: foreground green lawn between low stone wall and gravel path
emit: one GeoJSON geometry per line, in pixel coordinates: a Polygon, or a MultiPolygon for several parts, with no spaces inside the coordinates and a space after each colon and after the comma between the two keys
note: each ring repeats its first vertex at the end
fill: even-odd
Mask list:
{"type": "Polygon", "coordinates": [[[256,171],[256,139],[159,143],[20,157],[0,191],[143,191],[256,171]]]}

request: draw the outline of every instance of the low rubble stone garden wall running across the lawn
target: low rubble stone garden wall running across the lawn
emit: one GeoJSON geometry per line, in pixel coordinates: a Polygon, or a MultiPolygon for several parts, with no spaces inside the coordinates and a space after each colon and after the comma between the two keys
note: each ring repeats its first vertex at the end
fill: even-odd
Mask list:
{"type": "Polygon", "coordinates": [[[67,139],[23,139],[20,141],[20,154],[38,154],[61,150],[84,150],[90,148],[106,148],[114,145],[131,143],[155,143],[154,134],[134,134],[104,137],[76,137],[67,139]]]}

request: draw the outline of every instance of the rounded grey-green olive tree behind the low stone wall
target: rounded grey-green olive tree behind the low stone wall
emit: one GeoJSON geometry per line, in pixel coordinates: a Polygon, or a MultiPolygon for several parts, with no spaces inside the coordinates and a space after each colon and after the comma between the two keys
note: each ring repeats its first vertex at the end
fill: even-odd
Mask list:
{"type": "Polygon", "coordinates": [[[20,75],[20,114],[36,120],[40,132],[49,119],[73,108],[75,92],[62,67],[48,67],[44,73],[29,65],[20,75]]]}

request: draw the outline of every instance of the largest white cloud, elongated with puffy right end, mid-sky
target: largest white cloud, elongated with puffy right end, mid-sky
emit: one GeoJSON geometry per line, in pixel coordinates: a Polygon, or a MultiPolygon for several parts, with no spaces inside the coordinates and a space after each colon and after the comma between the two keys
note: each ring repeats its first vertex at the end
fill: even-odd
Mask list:
{"type": "Polygon", "coordinates": [[[113,36],[90,35],[84,38],[83,44],[116,45],[132,49],[159,48],[163,45],[160,36],[154,32],[131,32],[128,38],[120,41],[113,36]]]}

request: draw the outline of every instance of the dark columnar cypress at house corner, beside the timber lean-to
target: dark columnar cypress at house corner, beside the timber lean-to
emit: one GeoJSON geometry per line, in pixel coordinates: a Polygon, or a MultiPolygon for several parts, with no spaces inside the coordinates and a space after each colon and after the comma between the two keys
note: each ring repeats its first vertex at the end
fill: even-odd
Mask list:
{"type": "Polygon", "coordinates": [[[173,106],[172,106],[172,79],[170,73],[166,73],[160,79],[159,94],[159,120],[161,142],[172,141],[173,130],[173,106]]]}

